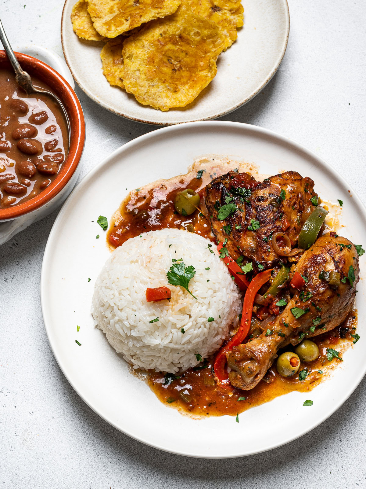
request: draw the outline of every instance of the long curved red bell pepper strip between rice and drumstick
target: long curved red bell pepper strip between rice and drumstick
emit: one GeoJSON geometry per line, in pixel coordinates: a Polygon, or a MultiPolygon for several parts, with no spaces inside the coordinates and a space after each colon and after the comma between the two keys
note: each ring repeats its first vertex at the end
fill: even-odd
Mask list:
{"type": "Polygon", "coordinates": [[[250,328],[250,322],[252,320],[253,304],[254,298],[258,290],[271,278],[270,270],[264,270],[258,273],[252,281],[249,283],[248,289],[244,296],[243,304],[243,314],[240,321],[240,326],[238,331],[234,336],[226,343],[226,345],[219,351],[214,361],[214,373],[219,386],[226,389],[231,389],[231,384],[229,381],[229,374],[225,369],[226,364],[226,353],[230,353],[234,346],[243,343],[245,337],[247,336],[250,328]]]}

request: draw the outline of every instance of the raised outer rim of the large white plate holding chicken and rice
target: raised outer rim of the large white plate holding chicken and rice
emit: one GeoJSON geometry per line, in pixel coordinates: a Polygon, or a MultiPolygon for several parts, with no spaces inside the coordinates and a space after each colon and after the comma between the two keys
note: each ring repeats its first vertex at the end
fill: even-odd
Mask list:
{"type": "Polygon", "coordinates": [[[79,188],[81,187],[81,185],[85,185],[88,180],[90,180],[91,178],[93,178],[94,174],[97,173],[98,171],[101,170],[101,168],[105,165],[108,164],[108,161],[112,158],[114,158],[115,156],[117,156],[119,153],[123,154],[124,151],[128,151],[131,146],[134,146],[134,145],[139,145],[139,143],[144,140],[144,139],[154,139],[156,137],[156,135],[158,134],[158,137],[160,136],[161,133],[169,133],[169,132],[175,132],[175,131],[181,131],[181,130],[184,130],[184,128],[188,127],[188,129],[193,129],[197,126],[203,126],[203,125],[208,125],[208,126],[217,126],[217,127],[236,127],[236,128],[240,128],[242,127],[244,130],[246,131],[252,131],[253,133],[256,133],[256,134],[261,134],[262,136],[270,136],[271,138],[275,139],[275,140],[278,140],[282,143],[285,143],[287,145],[290,145],[290,146],[293,146],[294,149],[296,149],[297,151],[301,151],[302,153],[305,153],[307,156],[310,156],[311,158],[314,158],[317,160],[317,162],[320,164],[320,166],[322,166],[327,172],[330,172],[330,174],[332,175],[333,178],[335,178],[337,180],[337,183],[340,183],[342,186],[347,186],[347,190],[349,190],[352,194],[352,198],[354,199],[353,201],[353,205],[355,206],[358,206],[358,210],[361,212],[361,214],[363,215],[365,221],[366,221],[366,206],[364,205],[364,203],[362,202],[362,200],[359,198],[358,194],[354,191],[353,187],[351,185],[349,185],[348,181],[343,178],[339,173],[338,171],[333,168],[329,163],[327,163],[322,157],[318,156],[316,153],[314,153],[313,151],[307,149],[305,146],[297,143],[296,141],[294,141],[293,139],[290,139],[290,138],[287,138],[285,137],[284,135],[282,134],[279,134],[279,133],[275,133],[274,131],[271,131],[269,129],[265,129],[263,127],[260,127],[260,126],[255,126],[255,125],[251,125],[251,124],[246,124],[246,123],[241,123],[241,122],[231,122],[231,121],[194,121],[194,122],[185,122],[185,123],[182,123],[182,124],[176,124],[176,125],[173,125],[173,126],[166,126],[164,128],[160,128],[160,129],[157,129],[155,131],[151,131],[149,133],[145,133],[145,134],[142,134],[141,136],[138,136],[137,138],[135,139],[132,139],[131,141],[128,141],[127,143],[123,144],[122,146],[120,146],[119,148],[117,148],[116,150],[114,150],[112,153],[110,153],[109,155],[107,155],[105,158],[102,159],[102,161],[100,163],[98,163],[94,168],[92,168],[82,179],[81,181],[78,183],[78,185],[74,188],[74,190],[71,192],[71,194],[69,195],[69,197],[66,199],[66,201],[63,203],[62,207],[61,207],[61,210],[55,220],[55,222],[53,223],[53,226],[51,228],[51,231],[49,233],[49,236],[47,238],[47,244],[45,246],[45,250],[44,250],[44,254],[43,254],[43,259],[42,259],[42,266],[41,266],[41,280],[40,280],[40,298],[41,298],[41,312],[42,312],[42,318],[43,318],[43,324],[44,324],[44,328],[45,328],[45,331],[46,331],[46,334],[47,334],[47,338],[48,338],[48,341],[49,341],[49,344],[50,344],[50,347],[51,347],[51,350],[52,350],[52,353],[61,369],[61,372],[62,374],[65,376],[65,378],[67,379],[67,381],[69,382],[69,384],[71,385],[71,387],[75,390],[75,392],[79,395],[79,397],[96,413],[98,414],[98,416],[100,416],[104,421],[106,421],[108,424],[110,424],[111,426],[113,426],[114,428],[118,429],[119,431],[121,431],[122,433],[124,433],[125,435],[145,444],[145,445],[148,445],[148,446],[152,446],[154,448],[157,448],[159,450],[162,450],[164,452],[167,452],[167,453],[174,453],[176,455],[183,455],[183,456],[186,456],[186,457],[192,457],[192,458],[202,458],[202,459],[228,459],[228,458],[238,458],[238,457],[246,457],[246,456],[250,456],[250,455],[255,455],[255,454],[258,454],[258,453],[264,453],[264,452],[267,452],[269,450],[273,450],[275,448],[278,448],[280,446],[284,446],[284,445],[287,445],[288,443],[291,443],[293,442],[294,440],[297,440],[298,438],[301,438],[302,436],[304,436],[306,433],[312,431],[314,428],[316,428],[317,426],[319,426],[320,424],[322,424],[323,422],[325,422],[330,416],[332,416],[335,411],[337,411],[345,402],[346,400],[349,399],[349,397],[353,394],[353,392],[355,391],[355,389],[358,387],[358,385],[360,384],[360,382],[362,381],[362,379],[365,377],[365,374],[366,374],[366,363],[365,363],[365,366],[363,368],[363,370],[360,372],[360,375],[359,377],[356,378],[352,378],[352,381],[349,382],[349,387],[346,391],[346,394],[344,395],[344,397],[342,397],[342,400],[335,403],[332,408],[330,409],[329,412],[327,412],[327,414],[321,416],[316,422],[314,422],[310,427],[307,427],[303,430],[301,430],[300,433],[297,433],[295,435],[290,435],[289,438],[285,441],[285,442],[280,442],[280,443],[273,443],[272,445],[270,445],[268,448],[266,449],[258,449],[258,450],[255,450],[255,451],[252,451],[252,452],[248,452],[248,453],[236,453],[236,454],[231,454],[231,455],[228,455],[228,456],[223,456],[223,455],[210,455],[210,456],[207,456],[207,455],[197,455],[197,454],[192,454],[192,453],[188,453],[188,452],[184,452],[184,451],[180,451],[180,450],[172,450],[172,449],[167,449],[165,448],[164,446],[161,446],[159,444],[154,444],[150,441],[147,441],[145,439],[143,439],[142,437],[138,437],[138,436],[135,436],[134,434],[131,433],[131,430],[129,430],[128,428],[127,429],[122,429],[121,427],[119,427],[115,422],[113,422],[111,419],[108,418],[108,416],[104,416],[102,414],[102,412],[100,412],[100,410],[96,407],[93,407],[92,403],[89,402],[80,392],[80,390],[73,385],[73,382],[71,380],[71,378],[67,375],[66,373],[66,368],[64,368],[63,366],[63,362],[62,362],[62,359],[57,355],[57,344],[53,344],[52,341],[50,340],[50,332],[51,332],[51,328],[49,327],[49,324],[52,323],[51,319],[49,319],[47,321],[47,314],[46,314],[46,305],[45,305],[45,299],[43,297],[43,291],[46,289],[46,282],[45,282],[45,277],[46,277],[46,267],[47,267],[47,262],[49,262],[51,260],[51,257],[52,257],[52,253],[50,253],[50,250],[51,250],[51,241],[53,240],[53,236],[54,234],[56,234],[57,232],[57,228],[58,228],[58,225],[59,225],[59,222],[61,222],[62,218],[63,218],[63,214],[66,212],[67,210],[67,206],[68,206],[68,203],[69,201],[73,198],[73,195],[74,193],[76,193],[76,191],[79,190],[79,188]],[[191,128],[189,127],[191,126],[191,128]]]}

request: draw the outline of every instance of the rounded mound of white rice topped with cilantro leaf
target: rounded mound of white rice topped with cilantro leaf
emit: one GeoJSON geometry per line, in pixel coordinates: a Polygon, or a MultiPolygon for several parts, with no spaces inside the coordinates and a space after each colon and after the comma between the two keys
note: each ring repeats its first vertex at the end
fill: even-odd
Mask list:
{"type": "Polygon", "coordinates": [[[92,314],[134,368],[177,373],[194,367],[200,363],[197,353],[206,358],[216,352],[230,325],[237,325],[240,293],[215,244],[208,244],[184,230],[149,231],[127,240],[106,261],[95,284],[92,314]],[[197,300],[168,284],[172,258],[195,267],[189,290],[197,300]],[[171,290],[171,299],[147,302],[146,288],[162,286],[171,290]],[[209,317],[214,321],[208,322],[209,317]]]}

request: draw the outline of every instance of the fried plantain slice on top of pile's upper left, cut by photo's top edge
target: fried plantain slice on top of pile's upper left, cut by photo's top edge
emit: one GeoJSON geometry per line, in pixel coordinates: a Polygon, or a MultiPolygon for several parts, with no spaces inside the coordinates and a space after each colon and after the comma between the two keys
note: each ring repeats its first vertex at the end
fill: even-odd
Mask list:
{"type": "Polygon", "coordinates": [[[105,37],[138,27],[144,22],[173,14],[181,0],[89,0],[94,27],[105,37]]]}

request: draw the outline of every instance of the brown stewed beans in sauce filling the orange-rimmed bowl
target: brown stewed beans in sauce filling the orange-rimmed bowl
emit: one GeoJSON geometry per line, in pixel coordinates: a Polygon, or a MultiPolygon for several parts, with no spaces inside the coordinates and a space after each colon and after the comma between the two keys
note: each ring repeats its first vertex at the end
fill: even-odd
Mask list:
{"type": "MultiPolygon", "coordinates": [[[[50,89],[37,77],[38,87],[50,89]]],[[[0,211],[32,200],[50,186],[67,156],[67,125],[47,95],[26,94],[0,68],[0,211]]],[[[0,212],[1,213],[1,212],[0,212]]]]}

